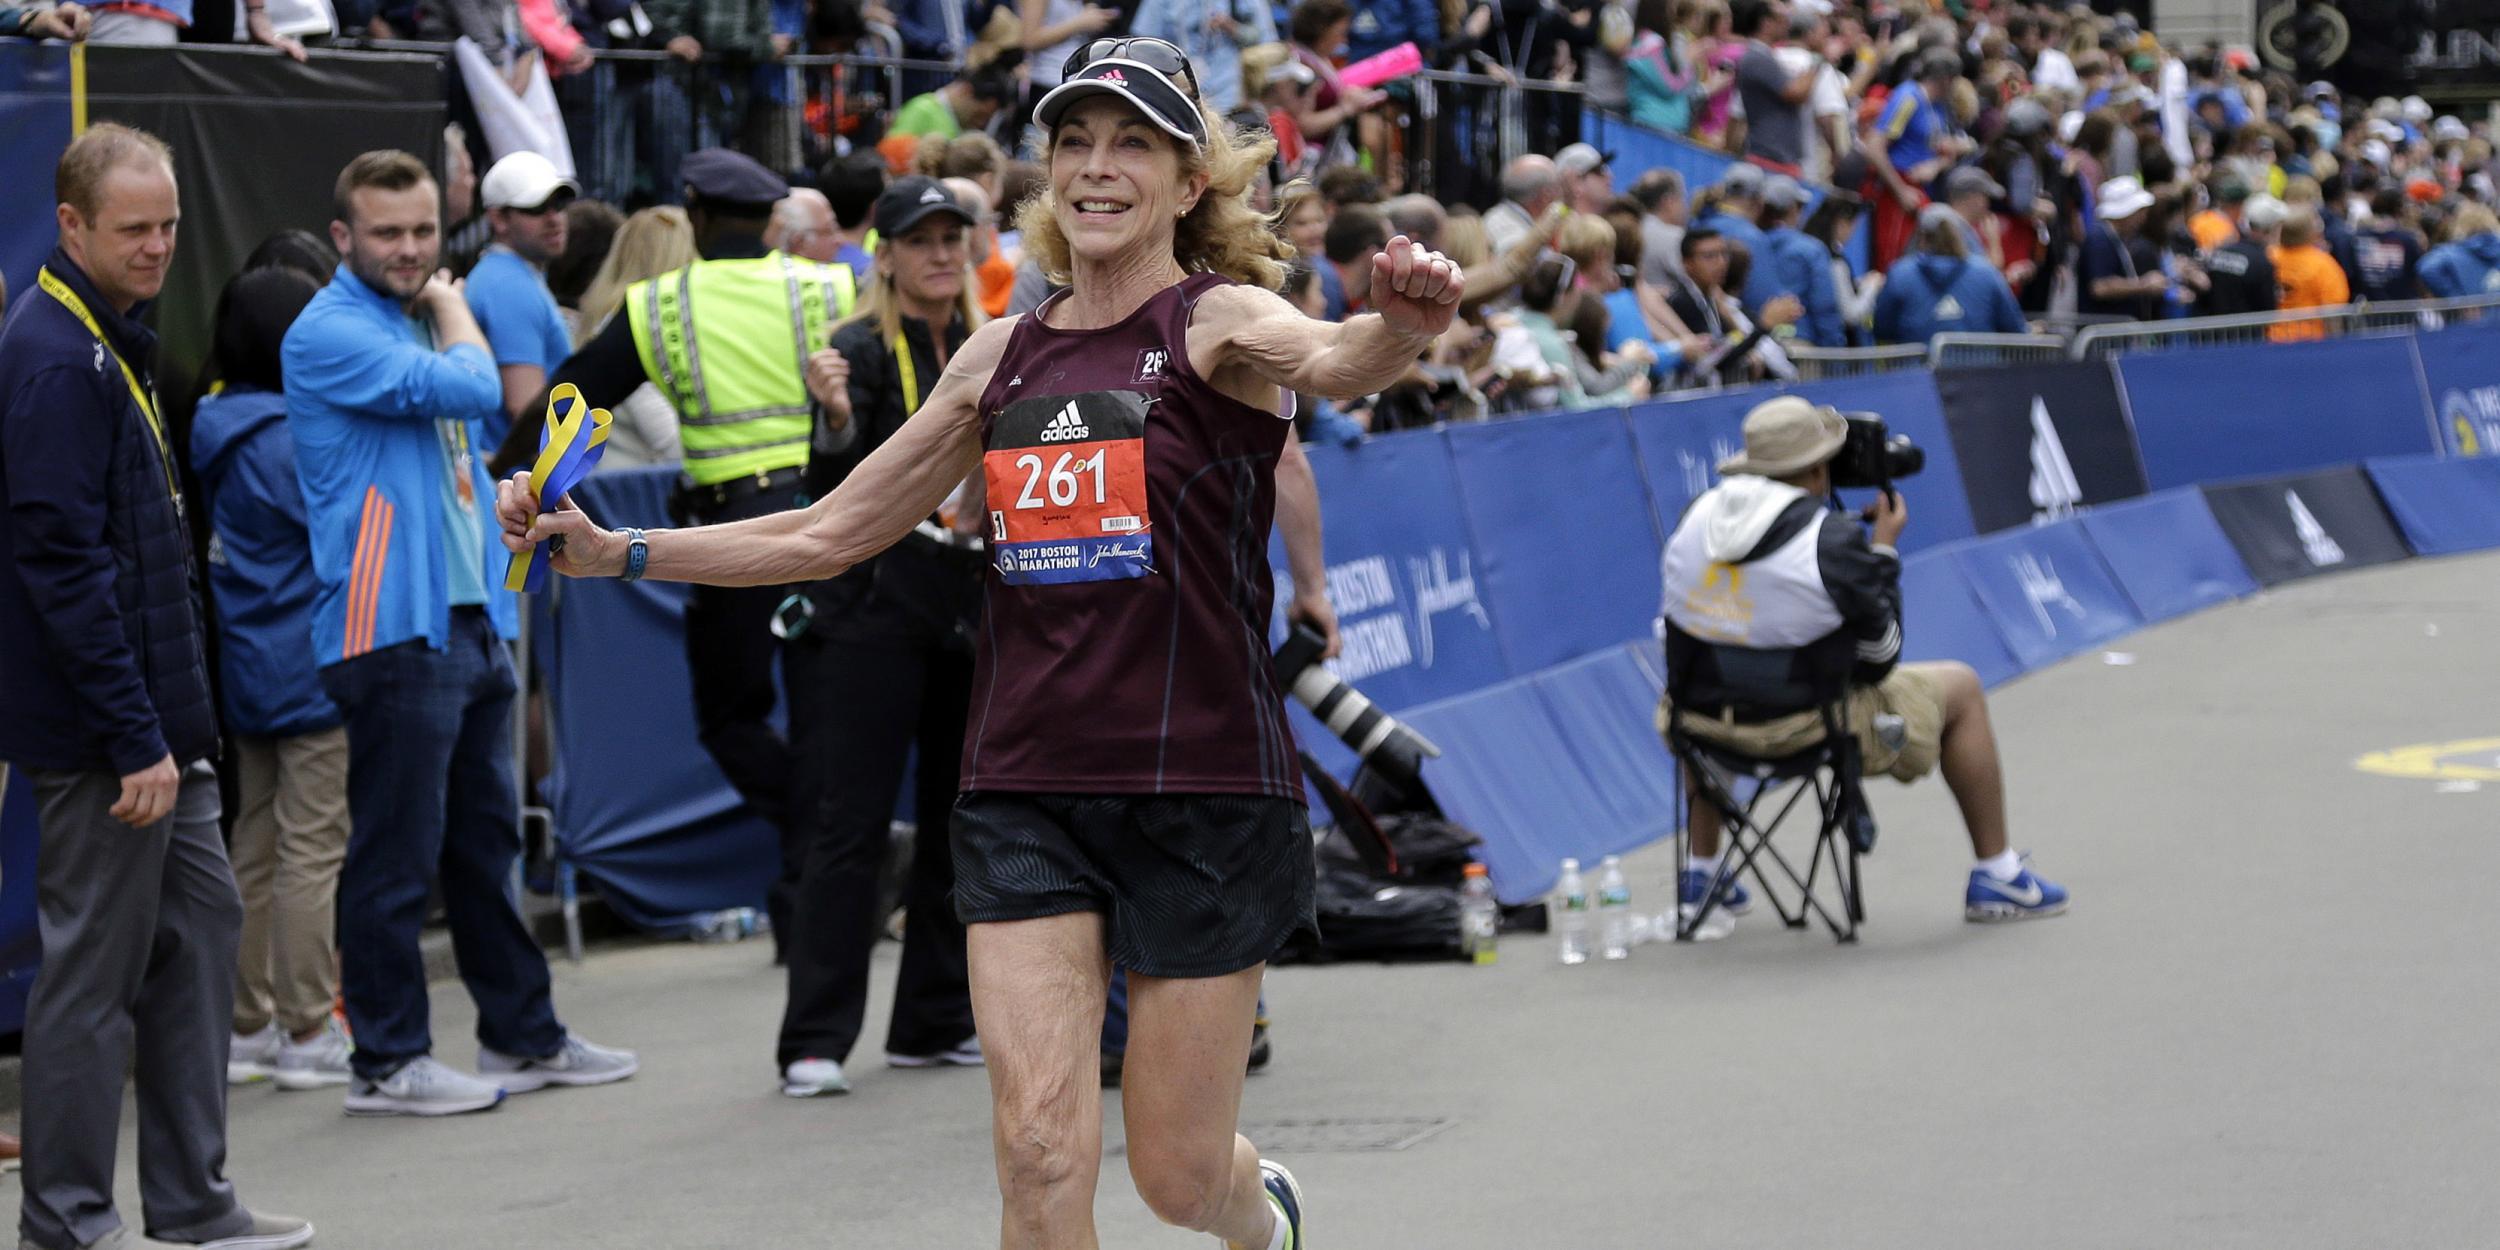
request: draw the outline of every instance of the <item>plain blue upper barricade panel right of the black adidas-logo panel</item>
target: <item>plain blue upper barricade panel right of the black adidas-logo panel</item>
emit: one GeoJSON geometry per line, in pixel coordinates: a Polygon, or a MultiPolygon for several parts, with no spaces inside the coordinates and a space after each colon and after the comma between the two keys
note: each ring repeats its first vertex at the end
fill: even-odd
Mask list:
{"type": "Polygon", "coordinates": [[[2435,450],[2412,338],[2140,352],[2118,378],[2152,490],[2435,450]]]}

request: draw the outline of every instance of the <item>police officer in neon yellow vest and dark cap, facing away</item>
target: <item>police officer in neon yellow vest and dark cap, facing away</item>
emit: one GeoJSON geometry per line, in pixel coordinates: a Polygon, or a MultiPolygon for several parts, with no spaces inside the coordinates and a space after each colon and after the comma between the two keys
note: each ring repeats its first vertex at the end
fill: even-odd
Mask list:
{"type": "MultiPolygon", "coordinates": [[[[772,170],[705,148],[680,172],[702,260],[628,288],[625,315],[552,382],[582,388],[595,408],[615,408],[642,382],[668,395],[685,445],[675,512],[688,525],[805,508],[812,402],[802,372],[850,315],[852,272],[765,248],[772,205],[790,195],[772,170]]],[[[528,465],[542,420],[545,405],[515,422],[498,465],[528,465]]],[[[790,805],[790,748],[768,722],[775,702],[768,638],[788,595],[790,588],[695,588],[685,605],[702,748],[748,808],[778,828],[790,805]]],[[[790,865],[782,868],[788,880],[790,865]]]]}

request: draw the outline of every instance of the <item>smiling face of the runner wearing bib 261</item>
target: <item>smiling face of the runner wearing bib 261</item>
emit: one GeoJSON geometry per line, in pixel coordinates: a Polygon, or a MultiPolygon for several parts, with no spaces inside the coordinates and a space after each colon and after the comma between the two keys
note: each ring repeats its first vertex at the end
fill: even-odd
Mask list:
{"type": "Polygon", "coordinates": [[[1172,255],[1175,220],[1205,185],[1182,178],[1180,140],[1112,95],[1070,105],[1050,138],[1052,212],[1080,260],[1172,255]]]}

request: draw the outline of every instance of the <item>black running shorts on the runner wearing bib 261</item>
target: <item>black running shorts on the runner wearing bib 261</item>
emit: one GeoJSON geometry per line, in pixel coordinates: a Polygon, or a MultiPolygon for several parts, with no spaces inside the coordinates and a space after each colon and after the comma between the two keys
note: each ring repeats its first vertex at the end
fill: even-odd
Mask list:
{"type": "Polygon", "coordinates": [[[1110,962],[1222,978],[1315,932],[1302,805],[1268,795],[1020,795],[955,800],[965,925],[1102,915],[1110,962]]]}

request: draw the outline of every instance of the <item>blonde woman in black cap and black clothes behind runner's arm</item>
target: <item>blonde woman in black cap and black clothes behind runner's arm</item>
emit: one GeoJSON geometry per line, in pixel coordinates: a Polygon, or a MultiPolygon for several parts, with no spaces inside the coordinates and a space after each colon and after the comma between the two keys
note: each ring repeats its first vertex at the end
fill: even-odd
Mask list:
{"type": "MultiPolygon", "coordinates": [[[[978,225],[935,178],[895,180],[878,198],[878,262],[860,312],[810,362],[820,402],[810,490],[842,485],[920,408],[982,312],[968,235],[978,225]]],[[[882,932],[878,882],[905,762],[920,820],[885,1058],[895,1068],[978,1065],[965,930],[948,898],[955,865],[948,818],[972,705],[972,628],[980,620],[980,500],[962,492],[912,535],[850,572],[802,590],[805,628],[790,630],[790,842],[800,865],[785,952],[790,1002],[775,1062],[782,1092],[848,1090],[842,1062],[868,1015],[868,958],[882,932]]]]}

